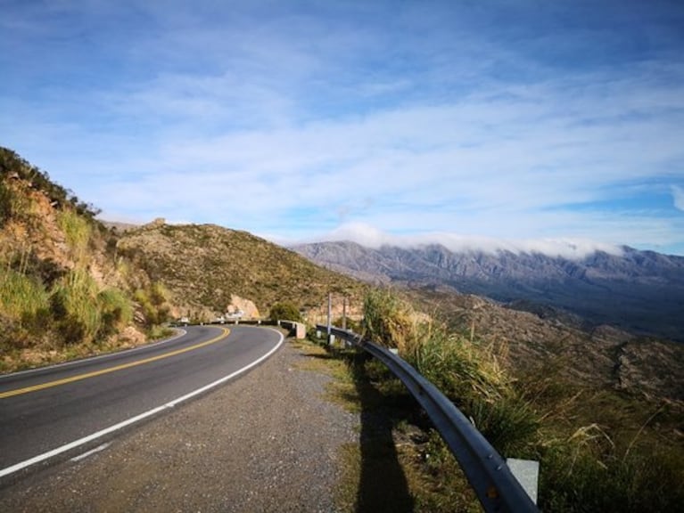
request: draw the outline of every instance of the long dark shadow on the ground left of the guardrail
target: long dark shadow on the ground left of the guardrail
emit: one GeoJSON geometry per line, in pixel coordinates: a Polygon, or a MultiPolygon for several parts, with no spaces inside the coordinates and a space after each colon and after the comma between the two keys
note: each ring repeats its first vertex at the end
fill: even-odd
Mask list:
{"type": "Polygon", "coordinates": [[[414,501],[392,438],[391,404],[368,376],[366,354],[350,361],[361,401],[361,476],[357,513],[413,511],[414,501]]]}

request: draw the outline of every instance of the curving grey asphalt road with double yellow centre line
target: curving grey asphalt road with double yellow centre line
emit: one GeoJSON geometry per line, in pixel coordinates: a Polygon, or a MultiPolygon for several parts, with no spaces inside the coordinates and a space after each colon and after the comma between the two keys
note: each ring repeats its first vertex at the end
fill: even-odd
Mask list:
{"type": "Polygon", "coordinates": [[[276,330],[192,326],[151,346],[0,377],[0,478],[73,457],[203,387],[225,382],[282,343],[276,330]]]}

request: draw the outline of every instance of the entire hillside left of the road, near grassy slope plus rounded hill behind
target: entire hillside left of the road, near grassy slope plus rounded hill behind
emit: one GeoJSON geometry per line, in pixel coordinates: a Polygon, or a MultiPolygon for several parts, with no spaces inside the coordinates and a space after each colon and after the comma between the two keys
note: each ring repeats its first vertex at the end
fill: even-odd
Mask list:
{"type": "Polygon", "coordinates": [[[0,371],[140,344],[180,316],[259,317],[286,301],[320,322],[328,293],[358,310],[367,287],[246,232],[98,214],[0,148],[0,371]]]}

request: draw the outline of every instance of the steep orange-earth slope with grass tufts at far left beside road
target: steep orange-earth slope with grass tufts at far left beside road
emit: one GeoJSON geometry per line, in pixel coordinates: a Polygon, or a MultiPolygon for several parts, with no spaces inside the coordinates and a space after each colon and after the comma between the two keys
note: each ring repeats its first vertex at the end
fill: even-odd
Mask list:
{"type": "Polygon", "coordinates": [[[0,371],[144,340],[149,326],[133,295],[144,297],[151,282],[115,257],[96,214],[0,148],[0,371]]]}

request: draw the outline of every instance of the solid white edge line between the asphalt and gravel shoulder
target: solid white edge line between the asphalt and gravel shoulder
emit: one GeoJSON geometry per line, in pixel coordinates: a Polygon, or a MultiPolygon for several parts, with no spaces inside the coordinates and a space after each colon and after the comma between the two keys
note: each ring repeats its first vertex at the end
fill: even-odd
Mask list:
{"type": "MultiPolygon", "coordinates": [[[[276,331],[273,330],[272,328],[267,328],[267,330],[271,331],[276,331]]],[[[78,440],[75,440],[71,442],[70,444],[64,444],[61,447],[57,447],[56,449],[53,449],[52,451],[44,452],[43,454],[38,454],[37,456],[34,456],[33,458],[30,458],[29,460],[24,460],[21,461],[20,463],[17,463],[16,465],[12,465],[12,467],[7,467],[7,468],[2,468],[0,469],[0,477],[4,476],[9,476],[10,474],[13,474],[14,472],[18,472],[19,470],[22,470],[24,468],[28,468],[31,465],[35,465],[36,463],[39,463],[41,461],[49,460],[50,458],[54,458],[54,456],[57,456],[58,454],[62,454],[62,452],[67,452],[70,451],[71,449],[75,449],[79,445],[87,444],[88,442],[92,442],[93,440],[97,440],[98,438],[109,435],[110,433],[113,433],[115,431],[118,431],[119,429],[126,428],[127,426],[130,426],[131,424],[135,424],[136,422],[147,419],[148,417],[152,417],[152,415],[155,415],[156,413],[159,413],[160,411],[164,411],[168,408],[173,408],[176,406],[178,403],[182,403],[184,401],[187,401],[191,397],[194,397],[195,395],[200,395],[203,392],[206,392],[207,390],[210,390],[213,387],[218,387],[218,385],[222,385],[226,381],[235,378],[235,376],[238,376],[239,374],[242,374],[245,371],[249,371],[252,367],[259,365],[260,362],[263,362],[266,360],[271,354],[274,354],[280,346],[283,345],[284,341],[284,336],[280,331],[276,331],[276,333],[280,336],[280,340],[278,340],[278,343],[276,346],[273,347],[270,351],[268,351],[267,354],[264,354],[261,356],[259,359],[255,360],[254,362],[251,362],[249,365],[244,366],[242,369],[239,369],[231,374],[228,374],[227,376],[224,376],[223,378],[217,379],[216,381],[210,383],[209,385],[206,385],[202,388],[198,388],[197,390],[194,390],[193,392],[190,392],[190,394],[185,394],[181,397],[178,397],[177,399],[174,399],[173,401],[170,401],[169,403],[162,404],[161,406],[157,406],[156,408],[152,408],[152,410],[144,411],[143,413],[140,413],[139,415],[136,415],[135,417],[131,417],[130,419],[126,419],[122,422],[119,422],[119,424],[114,424],[113,426],[110,426],[109,428],[104,428],[100,431],[97,431],[96,433],[93,433],[92,435],[84,436],[83,438],[79,438],[78,440]]]]}

